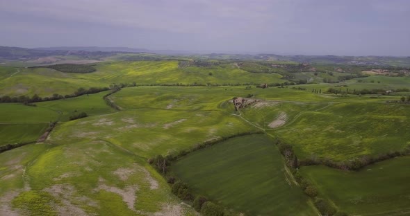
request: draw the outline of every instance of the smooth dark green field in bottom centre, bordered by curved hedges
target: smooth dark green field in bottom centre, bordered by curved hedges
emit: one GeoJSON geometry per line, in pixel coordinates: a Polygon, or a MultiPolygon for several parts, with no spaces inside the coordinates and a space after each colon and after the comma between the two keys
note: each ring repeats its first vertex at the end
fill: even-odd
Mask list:
{"type": "Polygon", "coordinates": [[[231,138],[192,152],[171,169],[198,194],[246,215],[315,214],[265,135],[231,138]]]}

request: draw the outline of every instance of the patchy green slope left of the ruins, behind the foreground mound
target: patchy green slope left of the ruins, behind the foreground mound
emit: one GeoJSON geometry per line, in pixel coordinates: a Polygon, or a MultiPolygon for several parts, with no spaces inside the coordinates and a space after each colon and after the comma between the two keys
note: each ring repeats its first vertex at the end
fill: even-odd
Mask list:
{"type": "Polygon", "coordinates": [[[60,124],[51,134],[50,141],[104,140],[149,158],[179,152],[218,137],[255,130],[236,116],[228,116],[222,111],[135,109],[60,124]]]}

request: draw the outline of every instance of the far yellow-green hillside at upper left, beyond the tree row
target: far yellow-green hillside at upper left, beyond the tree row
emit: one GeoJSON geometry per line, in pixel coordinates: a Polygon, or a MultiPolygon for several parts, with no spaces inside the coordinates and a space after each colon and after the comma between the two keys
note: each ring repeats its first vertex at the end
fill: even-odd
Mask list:
{"type": "Polygon", "coordinates": [[[284,82],[281,75],[254,74],[233,64],[214,68],[197,66],[180,68],[177,61],[103,62],[95,65],[96,72],[63,73],[48,68],[0,67],[0,96],[66,95],[79,87],[108,87],[112,83],[137,84],[259,84],[284,82]],[[15,71],[14,73],[12,73],[15,71]],[[210,75],[211,72],[211,75],[210,75]]]}

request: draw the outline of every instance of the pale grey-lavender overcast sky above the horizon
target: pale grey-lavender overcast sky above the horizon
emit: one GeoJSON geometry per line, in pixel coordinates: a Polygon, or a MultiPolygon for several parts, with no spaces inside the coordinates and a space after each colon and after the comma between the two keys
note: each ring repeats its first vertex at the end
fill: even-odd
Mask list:
{"type": "Polygon", "coordinates": [[[0,0],[0,46],[410,56],[410,1],[0,0]]]}

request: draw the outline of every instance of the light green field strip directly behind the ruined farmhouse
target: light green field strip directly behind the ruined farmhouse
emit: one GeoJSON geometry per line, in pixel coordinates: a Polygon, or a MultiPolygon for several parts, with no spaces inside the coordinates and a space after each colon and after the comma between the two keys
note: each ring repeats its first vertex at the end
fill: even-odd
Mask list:
{"type": "MultiPolygon", "coordinates": [[[[249,95],[255,99],[281,101],[326,102],[340,100],[337,97],[314,94],[308,91],[277,87],[268,89],[255,87],[251,87],[251,89],[246,89],[246,87],[132,87],[122,89],[110,98],[124,109],[149,107],[213,110],[224,108],[223,102],[227,102],[233,97],[247,98],[249,95]]],[[[234,109],[233,105],[229,110],[231,109],[234,109]]]]}

